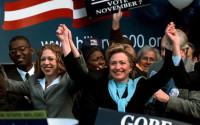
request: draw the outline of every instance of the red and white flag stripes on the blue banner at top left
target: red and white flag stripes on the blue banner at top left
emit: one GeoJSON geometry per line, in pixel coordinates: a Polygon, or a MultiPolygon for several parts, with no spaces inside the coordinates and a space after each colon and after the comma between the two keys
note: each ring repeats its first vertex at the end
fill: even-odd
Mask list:
{"type": "MultiPolygon", "coordinates": [[[[124,13],[130,16],[129,12],[124,13]]],[[[88,19],[84,0],[19,0],[5,2],[4,30],[16,30],[55,18],[72,18],[74,28],[111,17],[88,19]]]]}

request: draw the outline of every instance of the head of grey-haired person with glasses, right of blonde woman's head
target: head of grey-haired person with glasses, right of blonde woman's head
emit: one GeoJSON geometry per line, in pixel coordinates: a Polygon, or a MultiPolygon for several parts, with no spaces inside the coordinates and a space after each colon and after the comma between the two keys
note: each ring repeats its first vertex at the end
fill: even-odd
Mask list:
{"type": "Polygon", "coordinates": [[[149,45],[143,46],[137,53],[137,63],[142,71],[146,73],[150,65],[159,60],[161,60],[159,50],[149,45]]]}

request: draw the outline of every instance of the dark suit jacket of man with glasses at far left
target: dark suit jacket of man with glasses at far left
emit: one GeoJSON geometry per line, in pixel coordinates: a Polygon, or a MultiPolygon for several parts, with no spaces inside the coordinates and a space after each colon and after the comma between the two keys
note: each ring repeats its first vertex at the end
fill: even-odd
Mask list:
{"type": "MultiPolygon", "coordinates": [[[[16,68],[12,72],[7,73],[9,79],[23,81],[16,68]]],[[[16,95],[13,93],[6,93],[6,96],[0,100],[1,111],[15,111],[15,110],[33,110],[33,105],[29,99],[29,95],[16,95]]]]}

